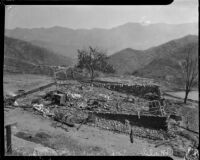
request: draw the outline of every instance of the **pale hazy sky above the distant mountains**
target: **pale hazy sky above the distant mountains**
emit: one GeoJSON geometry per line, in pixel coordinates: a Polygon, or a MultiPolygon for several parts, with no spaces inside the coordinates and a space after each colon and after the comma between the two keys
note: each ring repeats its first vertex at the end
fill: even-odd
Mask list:
{"type": "Polygon", "coordinates": [[[198,0],[174,0],[170,5],[81,6],[81,5],[10,5],[5,27],[112,28],[127,22],[187,23],[198,22],[198,0]]]}

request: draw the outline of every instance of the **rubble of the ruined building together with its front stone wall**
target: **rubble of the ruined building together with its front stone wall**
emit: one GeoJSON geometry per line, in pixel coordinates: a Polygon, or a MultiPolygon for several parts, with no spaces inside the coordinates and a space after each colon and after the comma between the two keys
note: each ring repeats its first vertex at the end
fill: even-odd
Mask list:
{"type": "MultiPolygon", "coordinates": [[[[122,87],[128,90],[127,85],[122,87]]],[[[128,133],[125,119],[131,122],[137,136],[161,139],[161,134],[157,131],[166,130],[166,117],[156,115],[154,117],[157,119],[146,118],[152,116],[148,100],[106,87],[70,82],[58,85],[56,89],[40,96],[34,96],[32,101],[30,97],[28,99],[34,111],[68,126],[82,124],[89,113],[94,113],[97,121],[90,125],[116,132],[128,133]]]]}

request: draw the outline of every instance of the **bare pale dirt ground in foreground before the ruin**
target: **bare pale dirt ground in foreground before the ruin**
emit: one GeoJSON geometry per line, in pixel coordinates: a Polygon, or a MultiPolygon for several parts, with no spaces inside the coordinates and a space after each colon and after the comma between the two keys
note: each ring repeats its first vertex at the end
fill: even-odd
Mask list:
{"type": "MultiPolygon", "coordinates": [[[[17,126],[12,128],[13,148],[21,151],[23,154],[31,155],[33,149],[38,147],[34,143],[25,143],[15,135],[24,132],[30,135],[37,133],[46,133],[49,135],[48,142],[40,142],[42,146],[52,147],[58,155],[77,155],[77,146],[71,148],[74,143],[84,149],[78,152],[80,155],[87,154],[86,148],[97,150],[92,155],[163,155],[163,152],[171,154],[169,146],[155,148],[155,144],[142,139],[134,138],[134,143],[130,143],[129,136],[116,134],[110,131],[101,130],[90,126],[83,125],[80,130],[76,128],[67,128],[68,131],[55,127],[55,122],[42,116],[30,113],[21,108],[10,109],[5,112],[5,124],[17,122],[17,126]],[[72,145],[71,145],[72,144],[72,145]],[[74,151],[73,151],[74,149],[74,151]],[[28,150],[28,151],[27,151],[28,150]],[[86,153],[84,153],[84,150],[86,153]],[[73,153],[74,152],[74,153],[73,153]]],[[[31,141],[31,140],[29,140],[31,141]]],[[[45,141],[45,140],[44,140],[45,141]]],[[[41,145],[40,144],[40,145],[41,145]]],[[[177,157],[173,157],[179,159],[177,157]]]]}

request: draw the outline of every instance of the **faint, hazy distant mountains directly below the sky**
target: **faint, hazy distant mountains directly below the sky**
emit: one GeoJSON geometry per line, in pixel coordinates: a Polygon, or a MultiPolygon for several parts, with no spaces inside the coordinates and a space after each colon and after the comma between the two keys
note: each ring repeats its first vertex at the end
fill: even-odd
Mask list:
{"type": "Polygon", "coordinates": [[[105,49],[109,55],[124,48],[145,50],[188,34],[197,35],[198,25],[126,23],[110,29],[16,28],[6,30],[5,34],[34,45],[44,46],[57,54],[76,58],[77,49],[89,45],[105,49]]]}

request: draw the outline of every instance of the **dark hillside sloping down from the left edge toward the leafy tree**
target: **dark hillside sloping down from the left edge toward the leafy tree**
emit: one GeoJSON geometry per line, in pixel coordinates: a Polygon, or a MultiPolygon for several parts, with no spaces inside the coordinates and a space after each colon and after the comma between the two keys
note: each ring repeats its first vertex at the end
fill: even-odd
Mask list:
{"type": "MultiPolygon", "coordinates": [[[[39,65],[71,65],[71,59],[57,55],[45,48],[18,39],[4,39],[4,70],[10,72],[34,72],[39,65]]],[[[40,67],[41,69],[41,67],[40,67]]]]}

